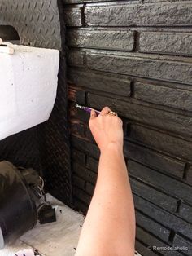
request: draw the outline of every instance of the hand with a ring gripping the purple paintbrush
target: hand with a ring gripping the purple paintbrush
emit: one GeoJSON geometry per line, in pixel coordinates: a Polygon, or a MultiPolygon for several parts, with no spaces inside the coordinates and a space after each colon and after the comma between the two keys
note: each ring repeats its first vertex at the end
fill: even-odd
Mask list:
{"type": "Polygon", "coordinates": [[[119,117],[108,114],[110,111],[105,107],[98,117],[94,109],[90,113],[89,128],[101,152],[111,143],[123,150],[123,122],[119,117]]]}

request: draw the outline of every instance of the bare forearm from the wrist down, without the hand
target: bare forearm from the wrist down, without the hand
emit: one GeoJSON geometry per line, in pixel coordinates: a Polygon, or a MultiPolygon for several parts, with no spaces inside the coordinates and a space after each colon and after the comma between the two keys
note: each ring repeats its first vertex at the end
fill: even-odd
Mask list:
{"type": "MultiPolygon", "coordinates": [[[[98,167],[98,181],[81,238],[93,249],[105,254],[133,255],[135,217],[133,197],[123,152],[111,143],[102,153],[98,167]],[[115,232],[114,232],[115,231],[115,232]],[[89,234],[89,235],[88,235],[89,234]],[[91,234],[91,236],[90,236],[91,234]],[[101,242],[102,241],[102,242],[101,242]],[[108,254],[107,254],[108,253],[108,254]]],[[[80,240],[81,244],[81,240],[80,240]]],[[[78,254],[78,255],[88,255],[78,254]]]]}

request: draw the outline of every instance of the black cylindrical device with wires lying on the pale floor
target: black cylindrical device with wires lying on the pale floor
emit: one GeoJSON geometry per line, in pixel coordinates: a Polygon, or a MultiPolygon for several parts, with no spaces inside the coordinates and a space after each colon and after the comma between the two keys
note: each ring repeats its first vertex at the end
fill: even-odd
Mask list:
{"type": "Polygon", "coordinates": [[[49,213],[41,214],[41,223],[56,220],[43,187],[44,181],[35,170],[0,162],[0,249],[32,229],[42,207],[49,213]]]}

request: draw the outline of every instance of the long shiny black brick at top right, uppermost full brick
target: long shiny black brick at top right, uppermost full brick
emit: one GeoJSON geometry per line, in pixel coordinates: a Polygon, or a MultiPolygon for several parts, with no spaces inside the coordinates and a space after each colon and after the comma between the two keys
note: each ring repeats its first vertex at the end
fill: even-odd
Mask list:
{"type": "Polygon", "coordinates": [[[94,26],[133,26],[192,24],[192,3],[160,2],[115,4],[85,7],[85,20],[94,26]]]}

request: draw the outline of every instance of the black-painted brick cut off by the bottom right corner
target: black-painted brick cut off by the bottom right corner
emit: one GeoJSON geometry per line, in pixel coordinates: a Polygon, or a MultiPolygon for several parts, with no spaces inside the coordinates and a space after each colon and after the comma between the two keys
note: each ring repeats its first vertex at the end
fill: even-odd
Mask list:
{"type": "Polygon", "coordinates": [[[183,252],[186,255],[191,255],[192,253],[192,243],[189,240],[186,240],[184,237],[176,234],[173,246],[178,246],[181,249],[181,252],[183,252]]]}

